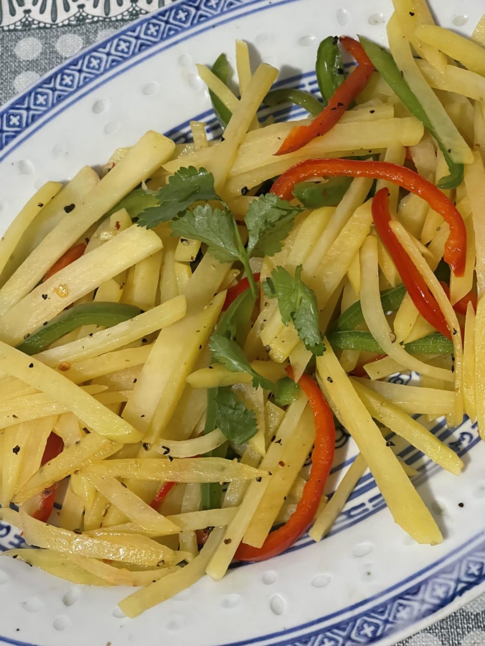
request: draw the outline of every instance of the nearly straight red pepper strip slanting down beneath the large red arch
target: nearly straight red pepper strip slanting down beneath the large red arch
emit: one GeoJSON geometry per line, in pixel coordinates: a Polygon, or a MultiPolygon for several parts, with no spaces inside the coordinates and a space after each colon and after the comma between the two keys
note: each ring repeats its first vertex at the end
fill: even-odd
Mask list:
{"type": "Polygon", "coordinates": [[[389,251],[389,255],[393,258],[394,265],[396,265],[402,282],[404,282],[404,286],[409,292],[409,296],[413,300],[418,312],[433,328],[436,328],[438,332],[441,332],[447,339],[451,340],[451,332],[447,327],[440,306],[438,306],[424,278],[418,269],[416,269],[413,261],[404,251],[389,226],[391,214],[389,213],[389,193],[387,189],[381,189],[372,198],[372,218],[374,219],[377,232],[387,251],[389,251]]]}

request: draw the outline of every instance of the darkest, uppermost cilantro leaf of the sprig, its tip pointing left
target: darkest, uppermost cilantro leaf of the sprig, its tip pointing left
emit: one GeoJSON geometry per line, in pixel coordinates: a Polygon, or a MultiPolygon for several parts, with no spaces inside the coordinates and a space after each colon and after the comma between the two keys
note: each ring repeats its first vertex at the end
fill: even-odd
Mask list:
{"type": "Polygon", "coordinates": [[[158,205],[149,207],[140,213],[138,226],[153,229],[160,222],[168,222],[199,200],[220,200],[214,191],[214,178],[204,168],[193,166],[180,168],[172,175],[166,186],[156,194],[158,205]]]}

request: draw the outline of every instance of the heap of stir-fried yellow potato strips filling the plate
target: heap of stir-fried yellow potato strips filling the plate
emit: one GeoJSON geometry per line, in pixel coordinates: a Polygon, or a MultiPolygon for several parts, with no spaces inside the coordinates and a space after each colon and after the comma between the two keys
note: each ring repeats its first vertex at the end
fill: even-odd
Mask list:
{"type": "MultiPolygon", "coordinates": [[[[312,117],[260,123],[257,111],[277,70],[251,70],[248,46],[237,41],[241,98],[217,70],[199,66],[219,107],[232,113],[221,140],[209,142],[195,121],[193,144],[184,146],[149,131],[115,151],[101,178],[85,167],[65,187],[47,182],[28,200],[0,241],[0,518],[41,549],[8,556],[72,583],[142,587],[120,603],[129,617],[205,573],[221,579],[240,545],[240,556],[245,549],[264,558],[268,537],[277,541],[298,522],[307,485],[320,473],[316,455],[308,483],[305,464],[315,430],[320,439],[323,432],[315,417],[323,396],[359,454],[328,502],[314,488],[310,537],[329,534],[368,467],[402,530],[418,543],[443,540],[413,485],[417,471],[400,453],[409,443],[447,477],[459,475],[458,455],[413,415],[446,415],[458,425],[465,412],[480,432],[485,424],[485,23],[471,41],[434,25],[421,0],[411,3],[413,12],[408,5],[396,0],[387,25],[395,65],[363,41],[382,76],[374,72],[361,94],[346,96],[354,107],[300,149],[274,155],[294,125],[307,126],[312,117]],[[413,58],[416,48],[422,59],[413,58]],[[349,156],[367,158],[353,168],[369,156],[387,169],[412,160],[420,175],[412,175],[416,194],[379,175],[376,190],[389,190],[390,213],[398,214],[387,234],[379,229],[382,239],[365,173],[342,189],[310,172],[314,184],[297,194],[311,195],[311,203],[286,190],[297,163],[339,158],[334,167],[351,174],[342,159],[349,156]],[[422,199],[431,194],[421,178],[437,184],[448,166],[444,197],[433,189],[445,223],[422,199]],[[268,196],[266,180],[274,178],[268,196]],[[74,205],[70,213],[67,204],[74,205]],[[455,253],[447,244],[450,226],[455,253]],[[69,249],[80,244],[83,255],[68,262],[69,249]],[[248,249],[257,253],[250,257],[248,249]],[[458,268],[450,279],[444,256],[458,268]],[[53,266],[62,268],[43,280],[53,266]],[[425,286],[432,315],[416,308],[405,280],[407,293],[394,311],[382,306],[383,291],[404,289],[404,266],[415,285],[425,286]],[[259,286],[244,291],[249,271],[259,286]],[[66,307],[93,300],[142,313],[109,328],[80,323],[32,357],[14,347],[66,307]],[[343,329],[342,321],[345,328],[353,320],[350,306],[363,318],[343,329]],[[356,349],[336,353],[327,336],[343,312],[338,331],[356,349]],[[453,355],[433,345],[442,341],[429,320],[448,337],[446,349],[453,342],[453,355]],[[385,356],[364,351],[356,331],[385,356]],[[427,353],[406,351],[404,344],[423,337],[427,353]],[[404,370],[416,371],[420,383],[381,380],[404,370]],[[288,377],[304,373],[301,388],[316,380],[317,399],[308,394],[308,401],[288,377]],[[62,482],[67,486],[58,487],[62,482]],[[52,505],[52,490],[62,504],[59,526],[36,517],[46,501],[52,505]]],[[[345,42],[361,57],[358,42],[345,42]]],[[[332,66],[325,70],[319,68],[319,82],[339,87],[341,78],[324,78],[336,74],[332,66]]],[[[298,97],[305,105],[304,94],[298,97]]],[[[307,101],[314,112],[316,100],[307,101]]],[[[389,532],[400,528],[390,524],[389,532]]],[[[305,530],[308,523],[299,527],[305,530]]]]}

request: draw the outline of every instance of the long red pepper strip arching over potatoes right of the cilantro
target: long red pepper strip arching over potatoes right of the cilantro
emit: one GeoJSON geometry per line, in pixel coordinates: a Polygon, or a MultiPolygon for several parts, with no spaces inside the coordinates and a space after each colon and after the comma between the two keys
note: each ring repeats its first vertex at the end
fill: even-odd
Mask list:
{"type": "Polygon", "coordinates": [[[462,276],[466,261],[466,229],[463,218],[457,207],[446,195],[417,172],[389,161],[361,161],[345,159],[307,160],[292,166],[272,185],[270,193],[279,195],[284,200],[292,200],[295,184],[311,177],[324,176],[370,177],[382,179],[406,191],[418,195],[433,209],[443,216],[449,224],[449,236],[446,241],[444,259],[453,269],[455,276],[462,276]]]}

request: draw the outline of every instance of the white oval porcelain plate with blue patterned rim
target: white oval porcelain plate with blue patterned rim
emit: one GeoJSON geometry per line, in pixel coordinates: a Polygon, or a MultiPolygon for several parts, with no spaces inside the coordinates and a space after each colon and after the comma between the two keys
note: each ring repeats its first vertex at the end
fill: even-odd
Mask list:
{"type": "MultiPolygon", "coordinates": [[[[465,34],[480,4],[434,2],[440,23],[465,34]]],[[[188,121],[197,118],[215,132],[195,63],[233,52],[235,38],[252,43],[254,62],[281,68],[278,83],[315,90],[319,39],[345,32],[385,42],[391,12],[387,0],[184,0],[96,43],[0,110],[2,227],[46,180],[103,163],[147,129],[184,141],[188,121]]],[[[205,578],[136,620],[116,605],[127,589],[76,587],[2,559],[0,643],[394,643],[485,590],[484,446],[469,421],[451,431],[442,419],[431,430],[466,464],[456,481],[419,453],[404,455],[419,469],[415,481],[442,529],[442,545],[423,547],[405,536],[366,474],[321,543],[303,537],[272,561],[233,567],[221,583],[205,578]]],[[[341,432],[330,490],[355,454],[341,432]]],[[[15,528],[0,523],[0,550],[22,543],[15,528]]]]}

